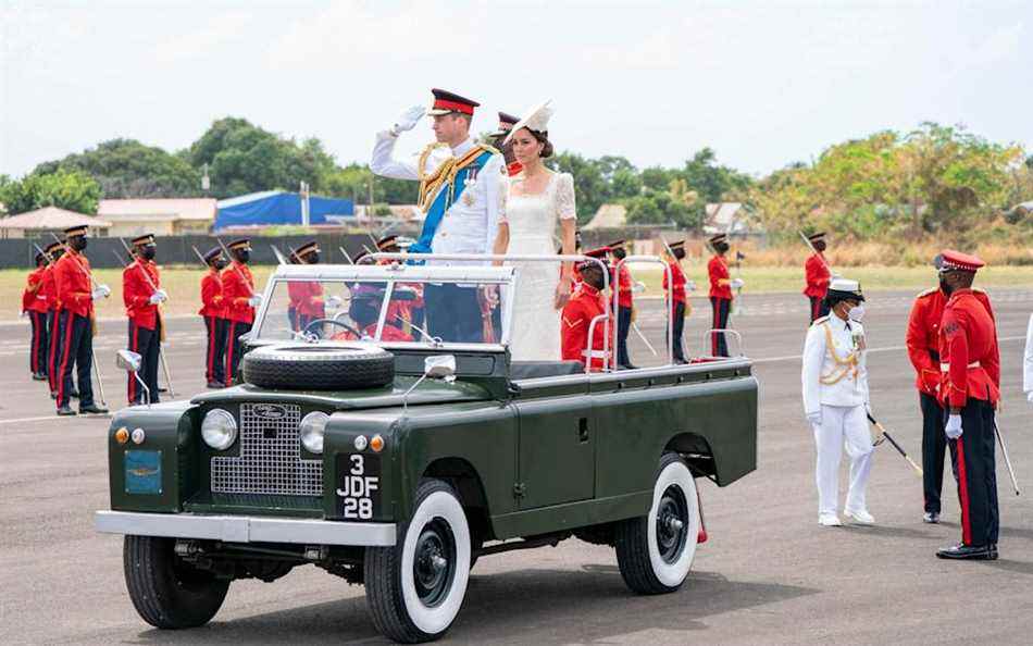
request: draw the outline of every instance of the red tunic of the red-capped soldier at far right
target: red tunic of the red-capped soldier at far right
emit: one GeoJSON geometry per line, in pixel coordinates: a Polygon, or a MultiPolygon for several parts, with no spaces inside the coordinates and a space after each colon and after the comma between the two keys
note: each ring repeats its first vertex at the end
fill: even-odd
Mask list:
{"type": "Polygon", "coordinates": [[[971,289],[958,289],[939,327],[939,401],[962,408],[969,397],[996,403],[1000,395],[997,326],[971,289]]]}

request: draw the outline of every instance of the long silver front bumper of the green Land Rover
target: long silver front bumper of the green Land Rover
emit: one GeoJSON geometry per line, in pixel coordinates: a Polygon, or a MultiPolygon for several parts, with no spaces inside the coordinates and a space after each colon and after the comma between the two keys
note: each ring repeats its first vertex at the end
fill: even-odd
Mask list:
{"type": "Polygon", "coordinates": [[[198,538],[224,543],[299,543],[304,545],[395,545],[395,523],[194,513],[98,511],[94,527],[107,534],[198,538]]]}

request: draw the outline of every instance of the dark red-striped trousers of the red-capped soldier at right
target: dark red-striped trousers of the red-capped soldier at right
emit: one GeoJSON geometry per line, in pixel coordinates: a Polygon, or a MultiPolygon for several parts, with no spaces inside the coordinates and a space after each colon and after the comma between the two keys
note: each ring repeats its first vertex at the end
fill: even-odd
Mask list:
{"type": "Polygon", "coordinates": [[[957,451],[961,543],[996,544],[999,515],[994,463],[994,407],[988,401],[970,397],[961,409],[961,437],[949,442],[957,451]]]}

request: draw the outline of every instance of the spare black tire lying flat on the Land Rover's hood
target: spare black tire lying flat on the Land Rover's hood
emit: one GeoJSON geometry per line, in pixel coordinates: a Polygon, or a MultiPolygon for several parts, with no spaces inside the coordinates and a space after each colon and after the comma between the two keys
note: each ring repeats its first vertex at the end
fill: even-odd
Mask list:
{"type": "Polygon", "coordinates": [[[276,344],[241,358],[244,381],[262,388],[379,388],[395,378],[395,356],[371,344],[276,344]]]}

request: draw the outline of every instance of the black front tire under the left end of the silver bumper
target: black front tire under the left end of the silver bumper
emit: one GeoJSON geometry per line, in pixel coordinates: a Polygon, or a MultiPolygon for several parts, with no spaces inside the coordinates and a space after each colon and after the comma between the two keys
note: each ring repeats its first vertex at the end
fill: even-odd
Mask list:
{"type": "Polygon", "coordinates": [[[133,606],[158,629],[197,628],[223,605],[229,581],[176,557],[174,538],[126,536],[122,549],[125,584],[133,606]]]}

